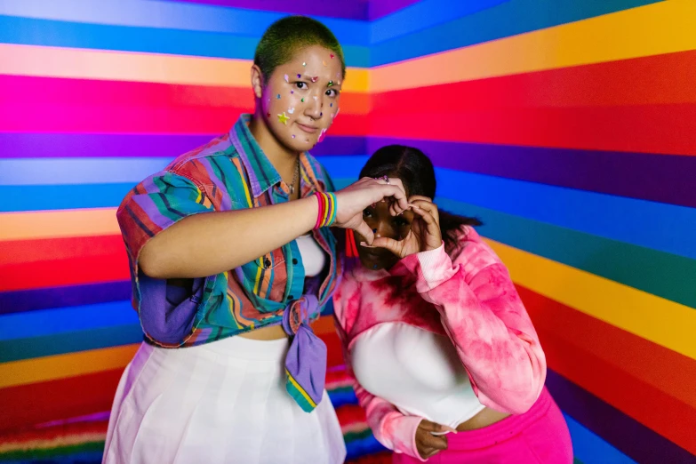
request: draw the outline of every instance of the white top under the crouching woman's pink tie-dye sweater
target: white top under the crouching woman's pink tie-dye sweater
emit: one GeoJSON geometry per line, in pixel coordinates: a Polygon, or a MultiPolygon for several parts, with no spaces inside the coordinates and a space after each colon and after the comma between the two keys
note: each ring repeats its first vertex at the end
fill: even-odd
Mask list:
{"type": "Polygon", "coordinates": [[[350,348],[356,380],[399,411],[456,428],[484,409],[452,341],[404,323],[358,335],[350,348]]]}

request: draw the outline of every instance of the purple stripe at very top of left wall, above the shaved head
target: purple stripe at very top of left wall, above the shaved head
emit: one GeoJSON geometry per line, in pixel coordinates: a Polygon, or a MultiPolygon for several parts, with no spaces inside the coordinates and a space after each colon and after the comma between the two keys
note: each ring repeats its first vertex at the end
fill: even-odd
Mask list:
{"type": "Polygon", "coordinates": [[[306,14],[343,18],[347,20],[367,20],[368,0],[317,2],[316,0],[169,0],[170,2],[185,2],[188,4],[215,4],[233,8],[267,12],[286,12],[291,14],[306,14]]]}

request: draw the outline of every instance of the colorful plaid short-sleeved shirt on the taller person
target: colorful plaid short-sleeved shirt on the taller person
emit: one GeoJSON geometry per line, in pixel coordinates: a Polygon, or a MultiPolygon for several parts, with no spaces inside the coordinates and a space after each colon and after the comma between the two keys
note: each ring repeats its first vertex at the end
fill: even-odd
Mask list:
{"type": "MultiPolygon", "coordinates": [[[[147,339],[157,345],[200,345],[280,324],[284,308],[303,294],[319,300],[316,314],[309,315],[313,320],[337,284],[340,267],[329,228],[313,232],[330,257],[329,266],[307,281],[295,241],[239,268],[193,279],[190,288],[140,272],[142,247],[183,218],[289,201],[288,186],[247,127],[250,119],[240,116],[229,133],[179,156],[164,171],[140,182],[116,212],[131,267],[133,308],[147,339]]],[[[316,190],[332,191],[332,181],[314,157],[302,154],[300,196],[316,190]]],[[[234,236],[229,237],[229,246],[236,246],[234,236]]]]}

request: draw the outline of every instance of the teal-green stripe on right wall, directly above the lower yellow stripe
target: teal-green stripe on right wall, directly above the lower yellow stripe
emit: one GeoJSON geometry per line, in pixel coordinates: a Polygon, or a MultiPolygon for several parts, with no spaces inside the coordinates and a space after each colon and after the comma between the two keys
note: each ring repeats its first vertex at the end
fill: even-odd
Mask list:
{"type": "Polygon", "coordinates": [[[483,236],[696,308],[696,260],[446,198],[436,203],[482,220],[483,236]]]}

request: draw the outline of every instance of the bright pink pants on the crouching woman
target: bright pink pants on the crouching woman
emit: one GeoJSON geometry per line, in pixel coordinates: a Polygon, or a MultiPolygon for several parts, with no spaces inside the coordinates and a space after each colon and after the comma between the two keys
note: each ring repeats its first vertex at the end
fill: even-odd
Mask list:
{"type": "MultiPolygon", "coordinates": [[[[568,426],[546,388],[528,412],[510,416],[491,426],[447,436],[448,449],[429,463],[460,464],[571,464],[568,426]]],[[[394,453],[392,464],[420,462],[394,453]]]]}

